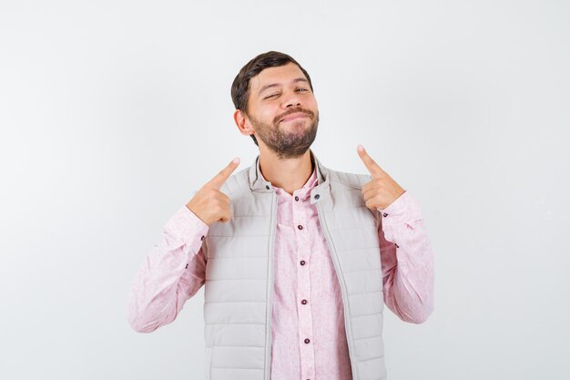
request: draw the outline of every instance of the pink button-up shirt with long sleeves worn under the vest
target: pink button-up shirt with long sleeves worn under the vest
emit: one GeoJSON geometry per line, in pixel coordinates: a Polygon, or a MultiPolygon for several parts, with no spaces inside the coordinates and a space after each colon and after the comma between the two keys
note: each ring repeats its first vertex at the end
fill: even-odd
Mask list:
{"type": "MultiPolygon", "coordinates": [[[[310,190],[278,195],[271,320],[271,380],[351,380],[341,288],[310,190]],[[302,226],[302,229],[299,228],[302,226]]],[[[167,222],[130,289],[127,319],[137,332],[169,324],[205,282],[201,241],[209,227],[186,206],[167,222]]],[[[408,191],[382,210],[378,235],[384,302],[403,321],[433,311],[433,252],[422,211],[408,191]]]]}

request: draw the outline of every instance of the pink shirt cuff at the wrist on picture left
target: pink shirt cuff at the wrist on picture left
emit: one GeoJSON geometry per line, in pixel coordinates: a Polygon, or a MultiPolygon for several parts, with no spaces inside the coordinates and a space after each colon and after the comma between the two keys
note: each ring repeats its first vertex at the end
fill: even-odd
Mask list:
{"type": "Polygon", "coordinates": [[[209,226],[184,205],[168,220],[164,229],[180,241],[199,248],[206,239],[209,226]]]}

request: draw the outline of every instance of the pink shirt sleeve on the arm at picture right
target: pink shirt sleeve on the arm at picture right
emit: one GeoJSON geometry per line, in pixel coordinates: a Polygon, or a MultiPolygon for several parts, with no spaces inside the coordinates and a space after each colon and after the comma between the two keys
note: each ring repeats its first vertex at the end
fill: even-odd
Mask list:
{"type": "Polygon", "coordinates": [[[422,324],[433,313],[434,284],[422,211],[408,191],[378,211],[384,303],[402,321],[422,324]]]}

